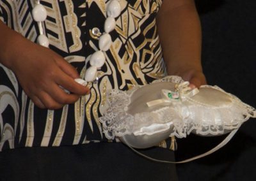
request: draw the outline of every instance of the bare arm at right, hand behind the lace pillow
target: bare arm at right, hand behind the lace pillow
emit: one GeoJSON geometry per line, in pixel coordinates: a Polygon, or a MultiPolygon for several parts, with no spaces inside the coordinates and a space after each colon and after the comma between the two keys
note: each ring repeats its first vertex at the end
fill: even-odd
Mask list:
{"type": "Polygon", "coordinates": [[[168,75],[192,85],[205,84],[201,65],[201,26],[193,0],[165,0],[157,15],[157,29],[168,75]]]}

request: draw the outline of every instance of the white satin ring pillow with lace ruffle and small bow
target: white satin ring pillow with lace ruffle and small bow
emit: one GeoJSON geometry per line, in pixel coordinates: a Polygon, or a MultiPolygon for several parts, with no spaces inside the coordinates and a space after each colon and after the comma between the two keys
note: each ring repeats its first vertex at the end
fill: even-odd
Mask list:
{"type": "Polygon", "coordinates": [[[109,139],[120,138],[134,148],[158,145],[168,136],[195,133],[218,136],[237,129],[250,117],[251,106],[218,87],[189,88],[179,76],[167,76],[130,91],[112,91],[100,118],[109,139]]]}

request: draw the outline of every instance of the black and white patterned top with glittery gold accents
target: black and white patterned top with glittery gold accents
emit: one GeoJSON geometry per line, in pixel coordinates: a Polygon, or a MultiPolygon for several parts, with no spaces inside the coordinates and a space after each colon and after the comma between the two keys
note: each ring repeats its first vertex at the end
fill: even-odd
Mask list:
{"type": "MultiPolygon", "coordinates": [[[[50,48],[83,77],[90,66],[86,57],[99,48],[92,29],[104,31],[109,0],[40,2],[47,10],[44,29],[50,48]]],[[[31,16],[35,3],[35,0],[0,1],[0,19],[34,42],[39,34],[31,16]]],[[[161,3],[162,0],[121,0],[122,13],[116,18],[115,31],[111,32],[113,44],[98,72],[99,81],[90,85],[91,94],[60,110],[36,107],[13,72],[0,64],[0,151],[106,141],[99,122],[106,91],[127,90],[166,75],[156,29],[161,3]]]]}

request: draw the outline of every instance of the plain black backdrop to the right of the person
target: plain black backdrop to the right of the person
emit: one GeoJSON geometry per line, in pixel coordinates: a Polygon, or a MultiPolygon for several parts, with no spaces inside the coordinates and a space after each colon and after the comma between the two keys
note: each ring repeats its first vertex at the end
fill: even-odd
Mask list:
{"type": "MultiPolygon", "coordinates": [[[[202,21],[202,64],[207,83],[256,107],[256,1],[198,0],[196,4],[202,21]]],[[[179,140],[176,157],[196,156],[224,138],[191,135],[179,140]]],[[[177,171],[179,180],[256,180],[256,120],[245,122],[214,154],[177,164],[177,171]]]]}

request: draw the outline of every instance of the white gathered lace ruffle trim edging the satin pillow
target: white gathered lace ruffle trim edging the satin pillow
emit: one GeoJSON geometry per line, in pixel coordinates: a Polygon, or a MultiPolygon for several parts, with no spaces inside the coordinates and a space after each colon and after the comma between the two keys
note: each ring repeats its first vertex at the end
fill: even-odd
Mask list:
{"type": "MultiPolygon", "coordinates": [[[[179,76],[168,76],[155,82],[182,83],[183,80],[179,76]]],[[[170,129],[173,129],[170,136],[179,138],[184,138],[191,132],[202,136],[214,136],[237,129],[250,117],[256,117],[255,108],[244,104],[236,96],[223,91],[219,87],[210,85],[204,87],[211,87],[224,92],[230,96],[232,103],[217,107],[198,103],[194,99],[187,98],[185,102],[188,104],[178,103],[164,106],[154,112],[131,115],[127,113],[127,107],[131,102],[132,93],[140,87],[127,92],[118,90],[109,92],[109,108],[104,113],[104,117],[100,117],[106,138],[114,139],[115,137],[132,134],[138,130],[138,126],[147,127],[150,124],[163,124],[169,127],[173,125],[173,127],[170,127],[170,129]]]]}

